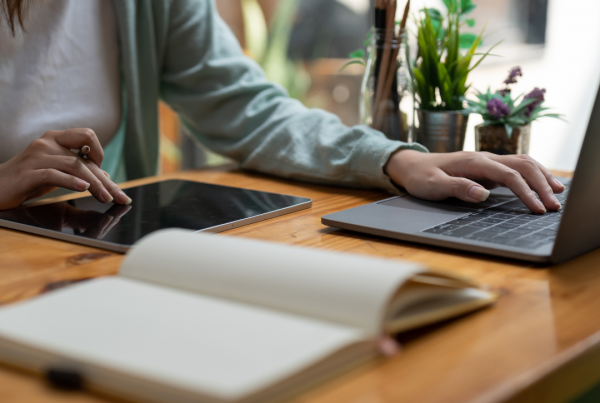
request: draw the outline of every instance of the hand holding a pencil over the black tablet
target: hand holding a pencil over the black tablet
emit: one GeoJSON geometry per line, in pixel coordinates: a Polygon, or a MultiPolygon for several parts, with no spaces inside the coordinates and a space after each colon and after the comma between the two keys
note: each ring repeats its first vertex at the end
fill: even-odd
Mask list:
{"type": "Polygon", "coordinates": [[[16,208],[56,187],[89,190],[101,203],[130,204],[131,199],[100,169],[103,159],[104,152],[93,130],[48,131],[0,164],[0,210],[16,208]],[[71,151],[85,145],[91,148],[88,159],[71,151]]]}

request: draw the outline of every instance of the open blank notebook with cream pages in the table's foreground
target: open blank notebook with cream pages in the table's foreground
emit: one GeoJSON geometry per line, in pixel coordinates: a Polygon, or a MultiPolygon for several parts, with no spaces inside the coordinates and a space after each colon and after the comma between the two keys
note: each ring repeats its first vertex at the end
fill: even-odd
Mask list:
{"type": "Polygon", "coordinates": [[[493,299],[410,263],[166,230],[118,276],[0,309],[0,360],[143,402],[265,402],[493,299]]]}

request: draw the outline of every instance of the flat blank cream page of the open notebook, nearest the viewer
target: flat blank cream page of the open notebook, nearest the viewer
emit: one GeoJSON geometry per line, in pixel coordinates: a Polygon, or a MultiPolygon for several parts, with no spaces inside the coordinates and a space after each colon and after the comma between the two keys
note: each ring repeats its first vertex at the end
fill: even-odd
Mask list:
{"type": "Polygon", "coordinates": [[[364,335],[349,327],[117,277],[0,311],[0,337],[76,362],[233,400],[364,335]]]}

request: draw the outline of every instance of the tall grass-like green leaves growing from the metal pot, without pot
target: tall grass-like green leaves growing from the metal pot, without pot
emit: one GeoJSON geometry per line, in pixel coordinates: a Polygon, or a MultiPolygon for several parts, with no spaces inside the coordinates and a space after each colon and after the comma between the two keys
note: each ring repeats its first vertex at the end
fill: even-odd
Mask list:
{"type": "MultiPolygon", "coordinates": [[[[464,108],[469,74],[491,52],[479,54],[483,32],[461,33],[465,25],[474,26],[468,14],[475,9],[472,0],[444,0],[445,16],[425,8],[417,22],[419,51],[410,70],[419,107],[429,111],[460,111],[464,108]],[[466,49],[466,51],[461,51],[466,49]],[[476,56],[481,56],[475,61],[476,56]]],[[[494,45],[495,47],[496,45],[494,45]]]]}

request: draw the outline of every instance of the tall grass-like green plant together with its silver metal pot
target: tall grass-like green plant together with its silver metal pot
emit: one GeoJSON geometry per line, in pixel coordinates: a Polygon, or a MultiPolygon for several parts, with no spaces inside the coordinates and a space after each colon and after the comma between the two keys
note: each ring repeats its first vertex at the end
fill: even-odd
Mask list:
{"type": "Polygon", "coordinates": [[[469,113],[464,105],[467,79],[490,53],[475,61],[483,31],[479,35],[461,33],[463,26],[475,24],[467,17],[475,8],[472,0],[444,0],[444,4],[445,16],[436,9],[422,10],[419,49],[410,71],[419,120],[417,141],[432,152],[463,149],[469,113]]]}

